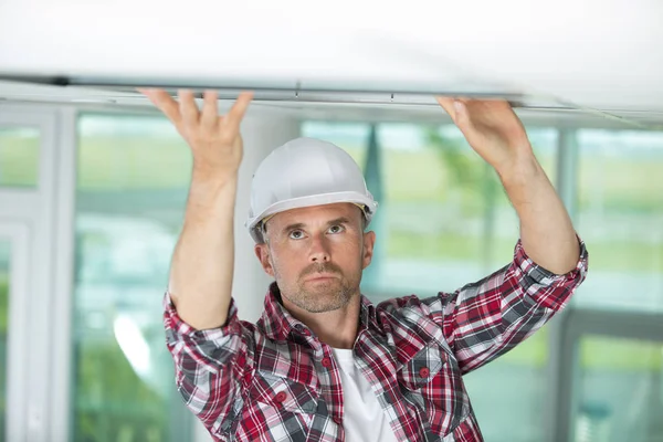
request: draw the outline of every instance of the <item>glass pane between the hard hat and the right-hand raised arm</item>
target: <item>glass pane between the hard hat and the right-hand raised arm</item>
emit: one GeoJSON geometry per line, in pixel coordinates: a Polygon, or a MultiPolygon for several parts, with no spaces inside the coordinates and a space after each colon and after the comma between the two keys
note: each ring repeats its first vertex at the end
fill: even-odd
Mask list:
{"type": "MultiPolygon", "coordinates": [[[[432,295],[513,259],[516,213],[494,170],[455,126],[387,125],[381,134],[383,287],[432,295]]],[[[529,129],[529,136],[554,179],[557,131],[529,129]]]]}

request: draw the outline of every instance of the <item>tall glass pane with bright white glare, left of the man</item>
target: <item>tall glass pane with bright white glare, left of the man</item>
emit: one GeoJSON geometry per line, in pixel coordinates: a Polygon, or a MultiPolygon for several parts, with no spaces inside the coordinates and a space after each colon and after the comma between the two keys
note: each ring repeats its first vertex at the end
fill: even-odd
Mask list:
{"type": "Polygon", "coordinates": [[[190,155],[165,118],[78,122],[75,441],[190,440],[161,301],[190,155]]]}

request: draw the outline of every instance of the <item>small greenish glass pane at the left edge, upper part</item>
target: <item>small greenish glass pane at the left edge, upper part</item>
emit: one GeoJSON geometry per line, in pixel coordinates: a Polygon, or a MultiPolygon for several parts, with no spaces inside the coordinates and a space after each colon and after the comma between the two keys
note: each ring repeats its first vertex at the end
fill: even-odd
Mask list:
{"type": "Polygon", "coordinates": [[[39,129],[0,127],[0,187],[35,187],[39,178],[39,129]]]}

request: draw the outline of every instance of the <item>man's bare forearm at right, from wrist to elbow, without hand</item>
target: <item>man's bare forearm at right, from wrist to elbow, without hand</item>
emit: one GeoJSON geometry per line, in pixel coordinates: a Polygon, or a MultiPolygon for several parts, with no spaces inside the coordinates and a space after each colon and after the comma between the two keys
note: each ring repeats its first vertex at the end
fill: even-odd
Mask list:
{"type": "Polygon", "coordinates": [[[571,219],[534,156],[497,171],[520,219],[525,252],[544,269],[565,274],[576,267],[580,246],[571,219]]]}

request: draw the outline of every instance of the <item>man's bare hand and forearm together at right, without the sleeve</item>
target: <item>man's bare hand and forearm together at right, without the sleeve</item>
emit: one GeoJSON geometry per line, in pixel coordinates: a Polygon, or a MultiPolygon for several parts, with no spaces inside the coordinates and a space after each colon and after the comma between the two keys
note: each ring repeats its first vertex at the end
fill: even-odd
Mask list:
{"type": "Polygon", "coordinates": [[[511,105],[442,97],[438,103],[499,175],[520,219],[520,238],[529,257],[552,273],[573,270],[580,251],[576,231],[511,105]]]}

